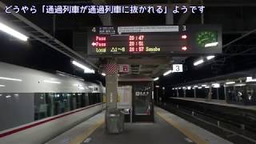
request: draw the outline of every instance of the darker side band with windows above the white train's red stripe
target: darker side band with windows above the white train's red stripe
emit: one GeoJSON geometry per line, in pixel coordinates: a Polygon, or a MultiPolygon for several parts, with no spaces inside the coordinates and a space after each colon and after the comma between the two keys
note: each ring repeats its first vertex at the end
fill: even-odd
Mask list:
{"type": "Polygon", "coordinates": [[[6,117],[0,118],[0,123],[5,123],[0,126],[0,130],[7,130],[99,102],[102,102],[102,94],[99,93],[0,93],[0,103],[2,103],[0,111],[2,110],[2,114],[6,117]]]}

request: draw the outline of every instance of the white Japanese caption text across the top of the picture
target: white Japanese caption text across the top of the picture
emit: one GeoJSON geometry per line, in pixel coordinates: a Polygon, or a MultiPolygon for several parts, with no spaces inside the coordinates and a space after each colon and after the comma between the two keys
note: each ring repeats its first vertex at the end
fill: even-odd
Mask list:
{"type": "MultiPolygon", "coordinates": [[[[205,6],[54,6],[42,5],[42,14],[173,14],[203,13],[205,6]]],[[[36,6],[6,6],[6,14],[38,13],[36,6]]]]}

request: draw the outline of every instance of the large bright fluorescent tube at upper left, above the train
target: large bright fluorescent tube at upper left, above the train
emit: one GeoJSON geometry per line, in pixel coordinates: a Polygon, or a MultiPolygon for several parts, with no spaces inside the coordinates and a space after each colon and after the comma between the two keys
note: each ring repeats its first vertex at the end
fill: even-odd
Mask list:
{"type": "Polygon", "coordinates": [[[26,37],[26,35],[19,33],[18,31],[10,28],[9,26],[4,25],[1,22],[0,22],[0,30],[2,30],[3,32],[5,32],[7,34],[10,34],[13,37],[18,38],[18,39],[20,39],[20,40],[22,40],[24,42],[26,42],[27,39],[28,39],[28,37],[26,37]]]}

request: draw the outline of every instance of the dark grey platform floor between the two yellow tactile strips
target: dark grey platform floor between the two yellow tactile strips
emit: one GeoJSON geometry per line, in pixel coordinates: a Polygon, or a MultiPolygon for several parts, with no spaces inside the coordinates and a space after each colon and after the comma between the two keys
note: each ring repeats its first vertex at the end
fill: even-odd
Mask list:
{"type": "Polygon", "coordinates": [[[154,123],[127,123],[122,134],[106,134],[101,126],[90,135],[90,144],[188,144],[186,135],[170,126],[159,116],[154,123]]]}

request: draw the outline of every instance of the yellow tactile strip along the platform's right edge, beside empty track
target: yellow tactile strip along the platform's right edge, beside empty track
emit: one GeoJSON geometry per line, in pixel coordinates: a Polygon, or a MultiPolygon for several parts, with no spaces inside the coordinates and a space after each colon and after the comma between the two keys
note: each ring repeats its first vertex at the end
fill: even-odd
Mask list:
{"type": "Polygon", "coordinates": [[[188,138],[190,138],[192,141],[196,142],[197,144],[208,144],[205,139],[200,138],[197,134],[192,133],[190,130],[187,130],[185,127],[180,126],[178,122],[174,122],[171,118],[168,118],[165,114],[162,114],[161,112],[157,111],[157,114],[163,118],[166,122],[168,122],[170,125],[174,126],[176,129],[178,129],[182,134],[185,134],[188,138]]]}

